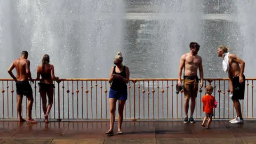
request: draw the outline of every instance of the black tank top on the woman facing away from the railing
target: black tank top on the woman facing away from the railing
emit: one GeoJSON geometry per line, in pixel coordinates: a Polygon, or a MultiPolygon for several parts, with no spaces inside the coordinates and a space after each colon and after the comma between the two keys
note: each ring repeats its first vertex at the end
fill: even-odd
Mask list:
{"type": "MultiPolygon", "coordinates": [[[[125,66],[123,67],[123,70],[121,71],[121,73],[116,73],[116,66],[114,66],[113,74],[120,75],[126,78],[125,66]]],[[[110,89],[114,91],[123,91],[127,89],[127,85],[121,79],[113,79],[110,89]]]]}

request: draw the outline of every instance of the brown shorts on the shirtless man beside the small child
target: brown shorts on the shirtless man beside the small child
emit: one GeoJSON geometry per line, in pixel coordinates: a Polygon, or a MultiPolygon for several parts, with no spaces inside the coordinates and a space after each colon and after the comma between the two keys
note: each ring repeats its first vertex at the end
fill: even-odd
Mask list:
{"type": "Polygon", "coordinates": [[[196,97],[198,91],[198,77],[197,76],[184,76],[184,96],[196,97]],[[194,95],[194,96],[193,96],[194,95]]]}

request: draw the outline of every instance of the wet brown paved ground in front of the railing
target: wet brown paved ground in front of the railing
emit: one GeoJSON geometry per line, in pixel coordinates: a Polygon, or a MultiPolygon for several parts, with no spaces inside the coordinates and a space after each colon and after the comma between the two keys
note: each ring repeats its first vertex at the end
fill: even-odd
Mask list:
{"type": "Polygon", "coordinates": [[[108,122],[0,122],[0,143],[256,143],[256,121],[213,121],[212,129],[201,122],[124,122],[124,134],[116,134],[116,124],[111,137],[108,122]]]}

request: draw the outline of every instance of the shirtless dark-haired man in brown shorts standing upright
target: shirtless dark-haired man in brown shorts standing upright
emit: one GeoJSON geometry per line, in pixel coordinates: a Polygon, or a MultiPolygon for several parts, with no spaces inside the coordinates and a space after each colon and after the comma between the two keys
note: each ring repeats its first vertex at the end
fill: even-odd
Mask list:
{"type": "Polygon", "coordinates": [[[199,69],[199,74],[201,78],[201,84],[199,89],[202,89],[204,85],[204,72],[203,72],[203,64],[202,58],[197,55],[199,51],[200,45],[196,42],[191,42],[189,44],[190,52],[183,54],[180,58],[180,66],[179,66],[179,79],[178,86],[182,86],[181,82],[181,73],[184,68],[183,78],[184,78],[184,110],[185,110],[185,119],[184,123],[195,123],[193,114],[196,106],[196,97],[198,91],[198,77],[197,77],[197,69],[199,69]],[[188,107],[189,107],[189,99],[191,99],[190,105],[190,117],[188,118],[188,107]]]}

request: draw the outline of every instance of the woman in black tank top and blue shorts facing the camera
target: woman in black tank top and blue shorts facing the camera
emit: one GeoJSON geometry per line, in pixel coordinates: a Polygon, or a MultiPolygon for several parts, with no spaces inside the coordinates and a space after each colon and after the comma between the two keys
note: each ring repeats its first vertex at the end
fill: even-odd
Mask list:
{"type": "Polygon", "coordinates": [[[114,64],[111,68],[111,73],[108,82],[111,83],[109,90],[109,107],[110,107],[110,129],[106,134],[113,134],[114,122],[115,122],[115,111],[116,101],[118,100],[118,132],[122,134],[122,123],[124,105],[127,99],[127,83],[129,83],[130,72],[129,68],[122,65],[123,57],[121,52],[117,52],[114,64]]]}

